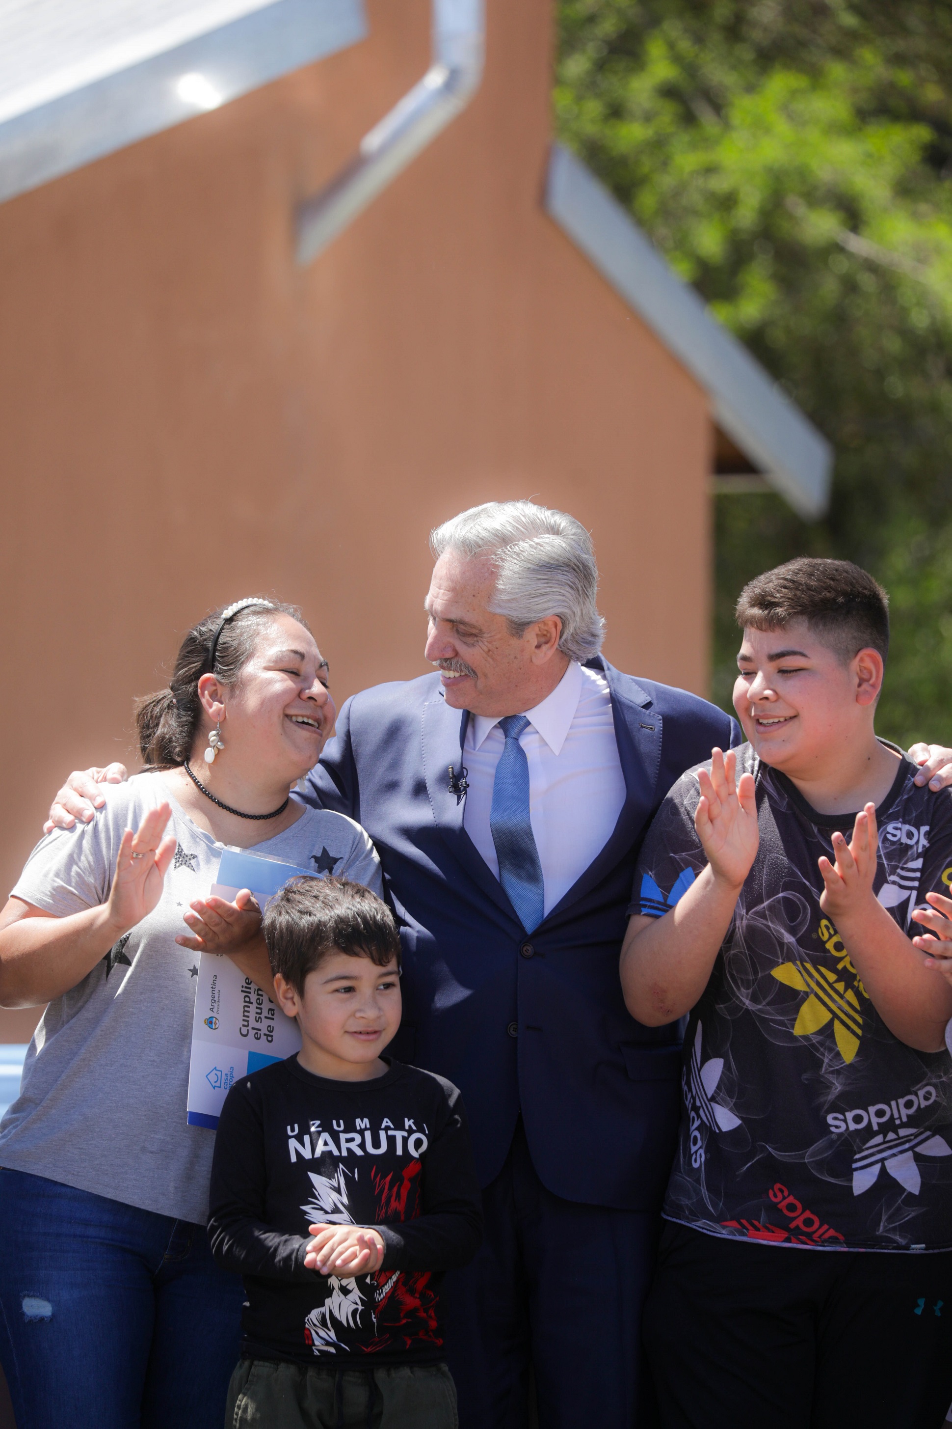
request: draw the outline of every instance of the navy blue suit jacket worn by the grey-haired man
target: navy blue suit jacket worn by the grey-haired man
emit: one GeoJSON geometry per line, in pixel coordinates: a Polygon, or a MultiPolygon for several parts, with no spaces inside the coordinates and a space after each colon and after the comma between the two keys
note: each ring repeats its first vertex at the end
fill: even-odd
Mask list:
{"type": "Polygon", "coordinates": [[[462,827],[448,770],[462,765],[470,716],[445,703],[437,673],[347,700],[303,797],[357,819],[377,846],[404,950],[393,1050],[461,1089],[482,1185],[521,1110],[551,1192],[651,1210],[674,1157],[679,1039],[677,1025],[644,1027],[625,1009],[625,910],[668,789],[739,732],[695,694],[589,663],[608,680],[628,797],[595,862],[530,937],[462,827]]]}

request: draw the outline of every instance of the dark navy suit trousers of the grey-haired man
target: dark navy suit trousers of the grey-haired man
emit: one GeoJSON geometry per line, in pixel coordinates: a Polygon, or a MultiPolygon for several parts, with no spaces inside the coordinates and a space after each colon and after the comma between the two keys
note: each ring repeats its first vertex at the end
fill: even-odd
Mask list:
{"type": "Polygon", "coordinates": [[[520,1122],[480,1255],[444,1282],[460,1429],[654,1429],[641,1349],[658,1218],[554,1196],[520,1122]]]}

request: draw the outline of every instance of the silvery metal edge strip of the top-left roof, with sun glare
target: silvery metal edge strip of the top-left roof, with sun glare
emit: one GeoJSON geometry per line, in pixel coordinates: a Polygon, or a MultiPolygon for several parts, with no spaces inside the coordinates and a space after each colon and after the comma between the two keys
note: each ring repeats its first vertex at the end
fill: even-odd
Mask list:
{"type": "Polygon", "coordinates": [[[0,124],[0,203],[193,119],[367,34],[364,0],[275,0],[0,124]],[[193,103],[178,81],[214,96],[193,103]]]}

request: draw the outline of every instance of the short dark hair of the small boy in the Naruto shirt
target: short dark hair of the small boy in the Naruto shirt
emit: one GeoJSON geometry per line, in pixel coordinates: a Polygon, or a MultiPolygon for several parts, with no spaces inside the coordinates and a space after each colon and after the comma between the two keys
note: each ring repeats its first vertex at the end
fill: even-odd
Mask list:
{"type": "Polygon", "coordinates": [[[383,899],[350,879],[290,879],[271,899],[263,920],[271,972],[304,996],[304,979],[328,953],[370,957],[385,967],[397,960],[400,935],[383,899]]]}

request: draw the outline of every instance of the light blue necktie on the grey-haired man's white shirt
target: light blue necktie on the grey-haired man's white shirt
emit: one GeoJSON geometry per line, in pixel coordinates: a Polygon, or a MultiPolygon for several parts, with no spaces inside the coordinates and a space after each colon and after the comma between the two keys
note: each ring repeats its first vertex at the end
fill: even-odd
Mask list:
{"type": "Polygon", "coordinates": [[[545,889],[542,865],[530,823],[530,765],[520,745],[525,714],[500,720],[505,746],[495,766],[490,830],[500,860],[500,883],[527,933],[542,922],[545,889]]]}

